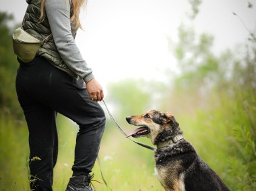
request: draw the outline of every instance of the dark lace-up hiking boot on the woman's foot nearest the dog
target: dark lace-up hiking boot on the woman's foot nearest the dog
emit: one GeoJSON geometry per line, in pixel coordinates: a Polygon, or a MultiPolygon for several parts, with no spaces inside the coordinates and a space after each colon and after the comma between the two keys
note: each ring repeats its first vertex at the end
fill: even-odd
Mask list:
{"type": "Polygon", "coordinates": [[[90,182],[94,176],[73,176],[69,179],[66,191],[94,191],[90,187],[90,182]]]}

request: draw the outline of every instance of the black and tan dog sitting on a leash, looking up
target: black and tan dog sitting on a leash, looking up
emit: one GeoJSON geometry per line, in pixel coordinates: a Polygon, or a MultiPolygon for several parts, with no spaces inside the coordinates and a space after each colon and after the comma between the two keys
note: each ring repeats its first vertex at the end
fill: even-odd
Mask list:
{"type": "Polygon", "coordinates": [[[129,124],[139,126],[127,137],[148,137],[153,145],[155,174],[166,191],[226,191],[226,184],[197,155],[183,137],[179,123],[170,112],[151,110],[128,116],[129,124]]]}

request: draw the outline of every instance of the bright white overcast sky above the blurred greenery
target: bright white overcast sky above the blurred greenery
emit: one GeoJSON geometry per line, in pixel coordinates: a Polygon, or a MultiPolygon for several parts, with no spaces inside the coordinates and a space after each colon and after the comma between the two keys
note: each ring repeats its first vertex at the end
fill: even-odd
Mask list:
{"type": "MultiPolygon", "coordinates": [[[[188,0],[88,0],[87,10],[81,13],[84,30],[77,32],[75,41],[104,88],[125,78],[164,81],[162,72],[177,64],[167,38],[177,41],[182,23],[197,34],[212,34],[212,51],[218,54],[247,42],[245,26],[255,31],[256,0],[249,2],[252,9],[244,0],[203,0],[191,21],[188,0]]],[[[22,22],[26,6],[25,0],[1,0],[0,11],[22,22]]]]}

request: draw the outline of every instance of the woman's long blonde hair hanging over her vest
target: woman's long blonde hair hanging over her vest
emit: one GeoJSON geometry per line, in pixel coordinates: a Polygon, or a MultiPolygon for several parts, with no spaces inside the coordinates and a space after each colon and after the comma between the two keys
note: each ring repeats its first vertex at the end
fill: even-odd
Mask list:
{"type": "MultiPolygon", "coordinates": [[[[66,1],[69,1],[69,0],[66,0],[66,1]]],[[[41,1],[41,7],[40,7],[41,15],[39,18],[40,22],[44,20],[45,2],[46,0],[41,1]]],[[[79,20],[79,13],[80,13],[80,8],[82,7],[82,5],[84,5],[84,3],[86,3],[86,0],[71,0],[73,13],[71,15],[70,22],[75,22],[75,31],[77,31],[78,28],[82,28],[82,25],[79,20]]]]}

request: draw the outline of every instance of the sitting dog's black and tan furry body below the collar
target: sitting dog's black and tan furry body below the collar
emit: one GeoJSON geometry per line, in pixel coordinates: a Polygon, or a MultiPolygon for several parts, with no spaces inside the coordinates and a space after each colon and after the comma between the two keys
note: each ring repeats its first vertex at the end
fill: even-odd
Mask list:
{"type": "Polygon", "coordinates": [[[155,151],[156,176],[166,190],[229,190],[185,139],[155,151]]]}

